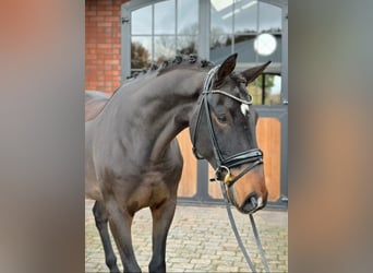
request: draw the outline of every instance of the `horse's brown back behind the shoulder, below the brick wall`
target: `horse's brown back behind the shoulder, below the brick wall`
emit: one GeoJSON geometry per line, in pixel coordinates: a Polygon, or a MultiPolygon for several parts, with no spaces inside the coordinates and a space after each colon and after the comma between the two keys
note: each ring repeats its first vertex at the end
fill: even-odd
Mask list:
{"type": "Polygon", "coordinates": [[[85,92],[85,121],[96,118],[109,98],[110,96],[103,92],[85,92]]]}

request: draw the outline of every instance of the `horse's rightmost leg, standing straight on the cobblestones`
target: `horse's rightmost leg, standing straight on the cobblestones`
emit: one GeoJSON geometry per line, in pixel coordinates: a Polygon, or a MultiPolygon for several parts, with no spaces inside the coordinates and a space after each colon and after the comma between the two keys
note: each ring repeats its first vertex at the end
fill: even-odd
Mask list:
{"type": "Polygon", "coordinates": [[[166,272],[166,239],[175,215],[176,200],[170,199],[160,206],[151,207],[153,216],[153,257],[149,272],[166,272]]]}

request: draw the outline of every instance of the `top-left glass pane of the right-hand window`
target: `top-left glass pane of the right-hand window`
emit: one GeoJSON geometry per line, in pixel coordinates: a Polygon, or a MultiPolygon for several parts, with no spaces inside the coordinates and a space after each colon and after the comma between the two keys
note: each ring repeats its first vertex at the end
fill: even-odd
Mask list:
{"type": "Polygon", "coordinates": [[[210,32],[215,35],[230,34],[233,27],[233,1],[210,0],[210,32]]]}

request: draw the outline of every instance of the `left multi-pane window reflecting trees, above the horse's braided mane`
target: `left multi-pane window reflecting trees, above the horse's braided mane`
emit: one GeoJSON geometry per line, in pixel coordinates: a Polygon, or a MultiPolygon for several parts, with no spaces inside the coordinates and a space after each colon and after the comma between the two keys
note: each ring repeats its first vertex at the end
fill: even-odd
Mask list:
{"type": "Polygon", "coordinates": [[[198,0],[168,0],[131,13],[131,73],[197,54],[198,0]]]}

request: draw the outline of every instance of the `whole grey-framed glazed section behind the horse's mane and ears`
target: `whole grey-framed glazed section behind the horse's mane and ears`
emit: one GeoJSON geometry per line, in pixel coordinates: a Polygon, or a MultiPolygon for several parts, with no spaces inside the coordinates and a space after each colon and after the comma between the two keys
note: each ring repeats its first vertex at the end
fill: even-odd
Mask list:
{"type": "Polygon", "coordinates": [[[238,52],[237,70],[272,61],[265,74],[248,87],[254,104],[281,104],[280,7],[286,4],[286,0],[130,1],[122,7],[122,14],[130,17],[122,35],[123,44],[128,43],[123,79],[177,55],[195,54],[220,63],[238,52]],[[131,66],[127,64],[130,56],[131,66]]]}

